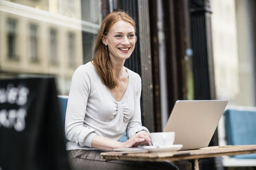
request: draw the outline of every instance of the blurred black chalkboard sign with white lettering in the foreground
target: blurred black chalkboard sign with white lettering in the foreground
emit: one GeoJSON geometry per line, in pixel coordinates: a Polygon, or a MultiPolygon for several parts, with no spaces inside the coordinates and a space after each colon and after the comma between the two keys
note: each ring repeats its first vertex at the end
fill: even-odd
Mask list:
{"type": "Polygon", "coordinates": [[[0,80],[0,170],[70,169],[54,78],[0,80]]]}

